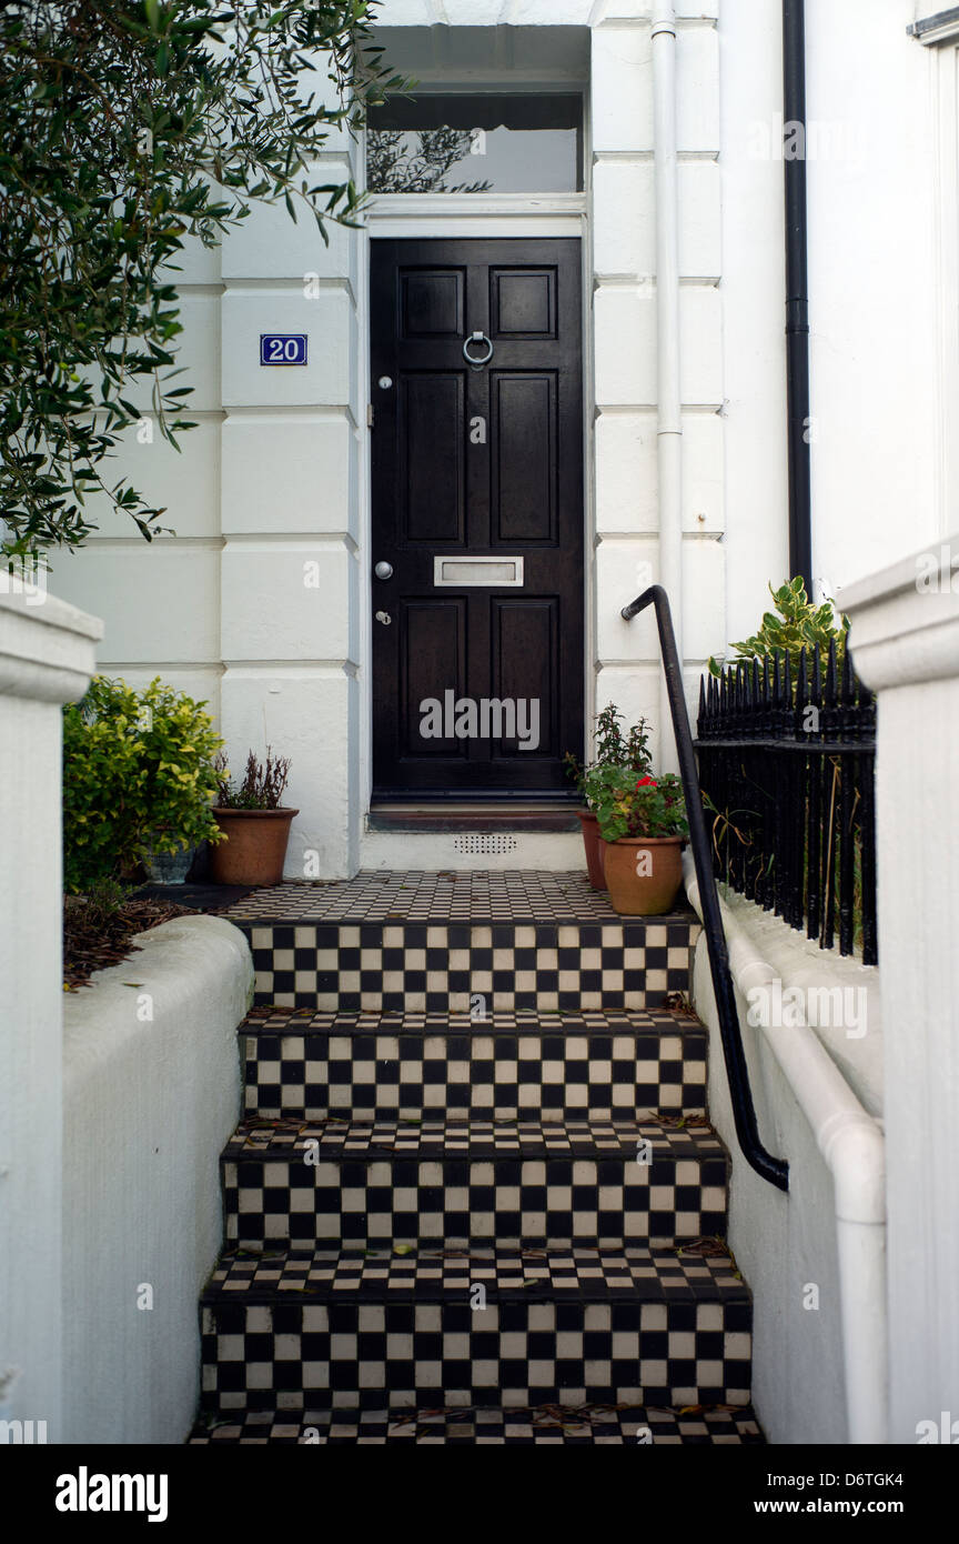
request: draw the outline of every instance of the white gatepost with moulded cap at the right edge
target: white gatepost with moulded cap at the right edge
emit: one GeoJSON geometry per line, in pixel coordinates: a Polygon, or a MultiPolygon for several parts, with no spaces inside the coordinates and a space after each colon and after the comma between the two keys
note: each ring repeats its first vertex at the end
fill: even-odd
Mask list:
{"type": "MultiPolygon", "coordinates": [[[[919,1441],[922,1422],[939,1433],[959,1419],[959,866],[956,821],[936,814],[954,811],[959,777],[957,562],[959,530],[945,545],[934,584],[927,577],[917,588],[917,574],[928,570],[914,556],[842,598],[853,619],[856,669],[877,693],[890,1431],[893,1442],[908,1444],[919,1441]]],[[[956,1434],[953,1425],[953,1442],[956,1434]]]]}

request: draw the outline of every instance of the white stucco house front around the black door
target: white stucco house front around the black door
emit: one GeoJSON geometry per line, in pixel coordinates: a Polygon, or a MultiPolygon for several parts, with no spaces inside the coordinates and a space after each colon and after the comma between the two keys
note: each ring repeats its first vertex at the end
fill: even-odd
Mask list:
{"type": "MultiPolygon", "coordinates": [[[[422,59],[413,73],[429,86],[444,83],[446,45],[429,31],[439,23],[472,37],[581,28],[589,45],[587,184],[574,216],[587,273],[589,709],[617,701],[658,733],[652,616],[631,625],[618,616],[658,577],[654,9],[652,0],[384,0],[376,20],[404,68],[422,59]]],[[[914,0],[808,3],[814,570],[833,590],[931,540],[950,486],[936,196],[954,202],[959,184],[936,170],[939,77],[933,51],[907,37],[913,9],[914,0]]],[[[692,704],[703,661],[757,625],[766,584],[788,565],[782,43],[769,0],[680,0],[677,15],[692,704]]],[[[566,45],[543,37],[532,63],[529,42],[520,63],[500,37],[489,57],[501,88],[563,77],[566,45]]],[[[490,68],[459,59],[452,85],[489,86],[490,68]]],[[[324,171],[362,179],[359,147],[333,139],[324,171]]],[[[438,235],[442,196],[433,205],[422,229],[438,235]]],[[[469,233],[527,225],[490,216],[469,233]]],[[[449,230],[467,233],[463,219],[449,230]]],[[[59,590],[106,619],[102,669],[134,682],[159,672],[208,698],[234,760],[267,743],[291,757],[290,801],[301,809],[291,877],[307,851],[324,875],[355,871],[370,786],[368,239],[331,227],[325,249],[308,221],[254,208],[222,252],[188,256],[182,360],[200,426],[182,437],[180,455],[157,437],[126,459],[170,506],[177,534],[146,547],[106,516],[86,551],[54,565],[59,590]],[[318,275],[311,298],[305,275],[318,275]],[[308,334],[307,369],[257,364],[259,332],[284,329],[308,334]],[[319,588],[304,584],[311,562],[319,588]]],[[[421,846],[405,840],[407,862],[430,866],[421,846]]]]}

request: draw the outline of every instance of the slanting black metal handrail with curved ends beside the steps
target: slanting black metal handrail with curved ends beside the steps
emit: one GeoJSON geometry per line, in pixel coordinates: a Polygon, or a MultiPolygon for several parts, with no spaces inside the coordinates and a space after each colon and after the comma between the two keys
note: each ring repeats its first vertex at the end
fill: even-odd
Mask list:
{"type": "Polygon", "coordinates": [[[789,1189],[789,1164],[785,1158],[774,1158],[763,1147],[755,1122],[755,1106],[752,1089],[749,1087],[749,1067],[743,1050],[743,1036],[735,1010],[735,990],[729,971],[729,950],[723,933],[723,917],[720,913],[718,891],[712,872],[709,854],[709,837],[706,834],[706,817],[703,814],[703,795],[700,791],[695,750],[692,746],[692,730],[689,713],[686,712],[686,695],[683,692],[683,670],[675,647],[672,631],[672,613],[669,598],[661,585],[654,584],[643,594],[623,607],[621,616],[631,622],[634,616],[644,611],[648,605],[655,607],[657,627],[660,630],[660,652],[663,655],[663,670],[666,673],[666,690],[669,693],[669,712],[672,715],[672,733],[680,760],[680,777],[683,780],[683,795],[686,800],[686,818],[689,821],[689,846],[700,888],[700,906],[703,911],[703,931],[709,951],[709,973],[712,976],[712,991],[720,1022],[720,1039],[723,1044],[723,1061],[726,1062],[726,1078],[729,1082],[729,1098],[732,1101],[732,1119],[735,1135],[746,1163],[755,1169],[763,1180],[779,1190],[789,1189]]]}

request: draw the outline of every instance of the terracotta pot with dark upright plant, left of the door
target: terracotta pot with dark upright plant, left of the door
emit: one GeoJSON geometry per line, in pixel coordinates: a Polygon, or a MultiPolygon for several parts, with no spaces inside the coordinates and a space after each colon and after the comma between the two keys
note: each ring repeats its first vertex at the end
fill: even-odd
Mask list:
{"type": "Polygon", "coordinates": [[[251,750],[237,787],[222,755],[216,770],[220,781],[213,815],[225,840],[210,854],[214,885],[282,883],[290,824],[299,815],[281,803],[290,778],[288,758],[274,757],[267,746],[261,763],[251,750]]]}

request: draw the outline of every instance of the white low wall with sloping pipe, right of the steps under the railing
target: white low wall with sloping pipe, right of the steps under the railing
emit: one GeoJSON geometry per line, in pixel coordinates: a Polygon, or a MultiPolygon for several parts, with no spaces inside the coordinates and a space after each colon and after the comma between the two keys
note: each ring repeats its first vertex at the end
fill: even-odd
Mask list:
{"type": "MultiPolygon", "coordinates": [[[[685,855],[683,868],[686,894],[702,916],[689,854],[685,855]]],[[[836,960],[826,959],[817,968],[811,965],[802,948],[802,936],[794,936],[799,948],[791,939],[782,937],[782,933],[792,934],[785,923],[779,922],[782,933],[777,939],[771,929],[759,929],[759,917],[754,916],[759,908],[734,908],[720,899],[720,909],[740,1024],[748,993],[754,987],[768,987],[776,979],[783,985],[786,980],[816,987],[829,984],[837,970],[836,960]]],[[[765,919],[765,913],[762,917],[765,919]]],[[[757,1299],[755,1388],[760,1419],[765,1402],[774,1442],[809,1441],[809,1430],[822,1430],[826,1419],[822,1408],[825,1365],[819,1366],[816,1357],[823,1357],[825,1363],[829,1353],[823,1353],[822,1346],[814,1349],[816,1337],[809,1342],[805,1326],[802,1332],[796,1332],[794,1303],[797,1282],[822,1283],[825,1275],[834,1275],[831,1334],[842,1360],[842,1383],[834,1394],[845,1400],[845,1441],[856,1445],[882,1444],[888,1436],[883,1133],[840,1072],[833,1047],[823,1044],[822,1030],[809,1024],[745,1030],[760,1136],[769,1150],[789,1161],[789,1190],[782,1197],[757,1180],[745,1164],[729,1129],[731,1112],[723,1107],[728,1106],[725,1093],[715,1099],[718,1112],[714,1109],[717,1081],[725,1085],[725,1068],[717,1070],[722,1051],[712,987],[711,982],[705,985],[705,948],[702,936],[697,943],[694,993],[697,1011],[711,1030],[711,1113],[717,1130],[731,1146],[729,1237],[757,1299]],[[765,1065],[763,1051],[772,1055],[777,1076],[772,1076],[772,1067],[765,1065]],[[769,1254],[772,1238],[777,1238],[776,1261],[769,1254]],[[813,1260],[819,1266],[809,1271],[813,1260]],[[820,1271],[819,1275],[816,1269],[820,1271]],[[780,1354],[772,1348],[780,1343],[783,1326],[789,1328],[780,1354]],[[797,1371],[800,1365],[802,1373],[797,1371]],[[803,1379],[805,1411],[803,1399],[794,1402],[792,1397],[792,1380],[799,1383],[803,1379]]],[[[873,1033],[870,1022],[870,1034],[854,1044],[862,1048],[873,1033]]],[[[870,1081],[874,1081],[876,1064],[870,1061],[866,1070],[870,1081]]],[[[857,1081],[863,1084],[859,1062],[857,1073],[857,1081]]],[[[831,1376],[834,1371],[833,1368],[831,1376]]],[[[837,1411],[831,1408],[828,1420],[836,1419],[837,1411]]]]}

